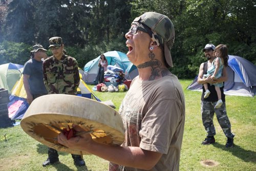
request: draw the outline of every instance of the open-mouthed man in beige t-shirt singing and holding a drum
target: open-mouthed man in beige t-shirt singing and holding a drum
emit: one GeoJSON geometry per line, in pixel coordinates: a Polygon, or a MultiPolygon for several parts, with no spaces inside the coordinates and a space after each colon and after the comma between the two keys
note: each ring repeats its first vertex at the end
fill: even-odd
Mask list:
{"type": "MultiPolygon", "coordinates": [[[[89,135],[58,142],[111,161],[109,170],[179,170],[185,123],[185,99],[173,67],[170,49],[174,26],[170,19],[147,12],[134,19],[125,34],[127,57],[138,68],[120,108],[125,140],[121,146],[97,143],[89,135]]],[[[75,126],[76,131],[81,127],[75,126]]]]}

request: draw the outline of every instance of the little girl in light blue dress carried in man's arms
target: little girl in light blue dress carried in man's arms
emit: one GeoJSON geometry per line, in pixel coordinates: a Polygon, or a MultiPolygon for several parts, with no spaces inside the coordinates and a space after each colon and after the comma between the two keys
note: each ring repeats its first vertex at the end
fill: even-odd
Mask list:
{"type": "MultiPolygon", "coordinates": [[[[207,74],[204,74],[204,78],[210,76],[211,79],[220,78],[222,76],[222,70],[224,67],[227,67],[227,46],[226,45],[218,45],[214,50],[214,55],[216,58],[212,61],[211,66],[207,70],[207,74]]],[[[207,98],[210,95],[210,91],[208,90],[208,84],[204,83],[204,98],[207,98]]],[[[221,100],[221,87],[223,87],[223,82],[218,82],[214,84],[215,90],[217,92],[218,101],[215,105],[215,108],[220,108],[223,104],[221,100]]]]}

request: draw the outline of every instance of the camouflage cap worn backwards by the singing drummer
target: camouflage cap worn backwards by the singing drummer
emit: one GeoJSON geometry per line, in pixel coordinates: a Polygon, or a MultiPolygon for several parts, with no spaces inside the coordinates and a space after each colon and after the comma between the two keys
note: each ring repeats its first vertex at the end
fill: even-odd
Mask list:
{"type": "Polygon", "coordinates": [[[171,20],[156,12],[146,12],[141,16],[133,20],[135,22],[143,23],[147,27],[151,28],[154,32],[158,33],[164,40],[164,56],[168,67],[173,67],[172,56],[170,55],[170,49],[174,44],[174,25],[171,20]]]}

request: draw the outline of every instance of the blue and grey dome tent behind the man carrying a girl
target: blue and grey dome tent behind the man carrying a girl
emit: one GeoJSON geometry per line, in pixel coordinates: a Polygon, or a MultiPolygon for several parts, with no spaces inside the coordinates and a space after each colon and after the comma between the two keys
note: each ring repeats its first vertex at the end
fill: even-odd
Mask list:
{"type": "MultiPolygon", "coordinates": [[[[228,55],[228,80],[224,84],[226,95],[249,96],[256,95],[256,66],[250,61],[234,55],[228,55]]],[[[188,90],[202,91],[202,84],[197,78],[187,87],[188,90]]]]}

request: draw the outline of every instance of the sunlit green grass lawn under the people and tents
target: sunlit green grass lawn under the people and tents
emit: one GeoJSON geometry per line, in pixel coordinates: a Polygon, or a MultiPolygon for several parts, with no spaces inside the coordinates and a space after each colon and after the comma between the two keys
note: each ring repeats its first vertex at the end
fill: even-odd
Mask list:
{"type": "MultiPolygon", "coordinates": [[[[225,147],[226,137],[216,117],[216,143],[201,145],[206,135],[200,114],[201,92],[185,90],[190,82],[191,79],[181,80],[186,100],[186,122],[180,170],[256,170],[256,99],[226,96],[227,114],[236,135],[233,148],[225,147]]],[[[116,110],[125,95],[125,92],[94,93],[102,101],[112,100],[116,110]]],[[[84,156],[87,167],[74,166],[71,155],[60,152],[61,163],[44,168],[41,165],[47,157],[47,147],[28,136],[20,125],[0,129],[0,170],[108,170],[108,161],[93,155],[84,156]]]]}

